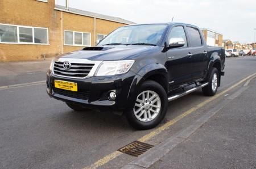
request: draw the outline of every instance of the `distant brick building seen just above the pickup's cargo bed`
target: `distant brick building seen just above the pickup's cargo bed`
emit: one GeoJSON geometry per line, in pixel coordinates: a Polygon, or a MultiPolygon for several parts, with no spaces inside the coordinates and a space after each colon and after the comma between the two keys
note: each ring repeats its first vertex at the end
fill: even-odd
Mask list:
{"type": "Polygon", "coordinates": [[[218,33],[217,31],[213,31],[212,29],[209,29],[209,28],[201,28],[201,31],[203,32],[205,41],[207,42],[208,46],[222,47],[223,35],[221,33],[218,33]]]}

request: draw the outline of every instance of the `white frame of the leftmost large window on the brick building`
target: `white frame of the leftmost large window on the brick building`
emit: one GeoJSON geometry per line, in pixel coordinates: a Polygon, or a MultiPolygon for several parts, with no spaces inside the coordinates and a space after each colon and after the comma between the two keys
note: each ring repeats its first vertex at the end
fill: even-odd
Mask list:
{"type": "Polygon", "coordinates": [[[31,27],[31,26],[21,26],[21,25],[16,25],[16,24],[4,24],[0,23],[0,25],[6,25],[6,26],[15,26],[17,28],[17,42],[16,43],[9,43],[9,42],[1,42],[0,44],[25,44],[25,45],[49,45],[49,32],[48,28],[43,28],[43,27],[31,27]],[[19,41],[19,28],[32,28],[32,43],[24,43],[19,41]],[[34,33],[34,28],[41,28],[41,29],[47,29],[47,44],[40,44],[40,43],[35,43],[35,33],[34,33]]]}

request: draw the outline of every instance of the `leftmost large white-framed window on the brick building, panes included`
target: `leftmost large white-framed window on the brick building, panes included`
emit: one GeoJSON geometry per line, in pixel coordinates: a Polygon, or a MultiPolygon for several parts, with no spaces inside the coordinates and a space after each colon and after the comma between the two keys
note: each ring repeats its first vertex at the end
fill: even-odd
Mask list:
{"type": "Polygon", "coordinates": [[[0,43],[48,45],[48,28],[0,24],[0,43]]]}

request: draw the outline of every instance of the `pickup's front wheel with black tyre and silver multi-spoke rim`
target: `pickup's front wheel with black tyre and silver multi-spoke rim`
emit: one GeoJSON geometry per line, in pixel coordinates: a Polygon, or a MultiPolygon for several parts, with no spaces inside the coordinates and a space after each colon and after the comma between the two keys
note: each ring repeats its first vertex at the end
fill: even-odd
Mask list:
{"type": "Polygon", "coordinates": [[[139,130],[151,129],[151,128],[154,128],[163,120],[167,112],[167,107],[168,107],[168,98],[164,88],[155,81],[146,81],[142,84],[141,89],[138,92],[137,100],[136,100],[136,104],[134,105],[134,108],[131,110],[126,110],[125,116],[129,124],[133,126],[133,128],[139,129],[139,130]],[[144,101],[142,98],[143,95],[144,95],[144,101]],[[155,97],[152,98],[153,96],[155,97]],[[154,105],[154,106],[151,107],[151,105],[154,105]],[[159,108],[159,105],[160,105],[160,108],[159,108]],[[155,112],[158,112],[158,113],[155,113],[155,112]]]}

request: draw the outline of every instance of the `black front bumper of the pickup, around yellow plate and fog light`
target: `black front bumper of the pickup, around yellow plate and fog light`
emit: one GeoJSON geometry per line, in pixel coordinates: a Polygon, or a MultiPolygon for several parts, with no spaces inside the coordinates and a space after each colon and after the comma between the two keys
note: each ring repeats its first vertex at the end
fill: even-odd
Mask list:
{"type": "Polygon", "coordinates": [[[135,100],[129,97],[135,73],[109,77],[90,77],[85,79],[64,78],[47,72],[47,93],[50,97],[63,102],[80,104],[97,111],[122,111],[134,107],[135,100]],[[77,92],[60,90],[54,87],[55,80],[77,83],[77,92]],[[110,91],[117,94],[114,101],[108,99],[110,91]]]}

